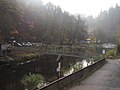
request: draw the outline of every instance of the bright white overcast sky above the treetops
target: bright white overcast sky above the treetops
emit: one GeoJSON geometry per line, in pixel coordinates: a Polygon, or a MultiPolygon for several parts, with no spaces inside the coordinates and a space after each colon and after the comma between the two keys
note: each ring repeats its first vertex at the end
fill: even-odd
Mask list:
{"type": "Polygon", "coordinates": [[[100,11],[108,10],[111,6],[120,5],[120,0],[43,0],[43,2],[52,2],[71,14],[80,13],[93,17],[96,17],[100,11]]]}

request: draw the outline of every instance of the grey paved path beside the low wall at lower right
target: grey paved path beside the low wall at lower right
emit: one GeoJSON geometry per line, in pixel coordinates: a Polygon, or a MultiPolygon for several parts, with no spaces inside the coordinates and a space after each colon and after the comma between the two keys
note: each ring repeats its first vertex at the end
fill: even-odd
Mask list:
{"type": "Polygon", "coordinates": [[[70,90],[120,90],[120,59],[108,60],[102,68],[70,90]]]}

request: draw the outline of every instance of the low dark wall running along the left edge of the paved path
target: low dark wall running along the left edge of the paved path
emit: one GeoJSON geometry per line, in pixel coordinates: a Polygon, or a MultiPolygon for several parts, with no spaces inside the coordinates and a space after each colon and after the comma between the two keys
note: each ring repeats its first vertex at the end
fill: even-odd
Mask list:
{"type": "Polygon", "coordinates": [[[83,68],[73,74],[66,76],[66,77],[60,78],[60,79],[42,87],[41,89],[37,89],[37,90],[63,90],[63,88],[66,87],[67,85],[69,85],[70,83],[74,82],[75,80],[85,78],[86,76],[88,76],[90,73],[92,73],[93,71],[100,68],[105,63],[106,63],[106,60],[101,59],[86,68],[83,68]]]}

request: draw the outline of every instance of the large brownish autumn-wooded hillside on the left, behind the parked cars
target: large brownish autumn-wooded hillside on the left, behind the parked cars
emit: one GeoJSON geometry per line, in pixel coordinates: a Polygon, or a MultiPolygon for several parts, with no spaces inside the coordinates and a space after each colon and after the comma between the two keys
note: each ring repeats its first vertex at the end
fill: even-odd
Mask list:
{"type": "Polygon", "coordinates": [[[52,3],[38,0],[0,0],[0,41],[72,43],[84,40],[86,25],[52,3]]]}

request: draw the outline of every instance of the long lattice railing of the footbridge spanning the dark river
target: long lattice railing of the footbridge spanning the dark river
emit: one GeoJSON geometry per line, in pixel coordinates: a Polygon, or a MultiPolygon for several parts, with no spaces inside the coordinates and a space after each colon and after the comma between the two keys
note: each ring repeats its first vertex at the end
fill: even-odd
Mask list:
{"type": "Polygon", "coordinates": [[[62,54],[62,55],[77,55],[80,56],[81,47],[78,46],[62,46],[62,45],[41,45],[31,47],[12,47],[13,52],[31,52],[38,54],[62,54]]]}

